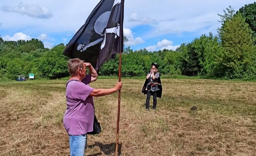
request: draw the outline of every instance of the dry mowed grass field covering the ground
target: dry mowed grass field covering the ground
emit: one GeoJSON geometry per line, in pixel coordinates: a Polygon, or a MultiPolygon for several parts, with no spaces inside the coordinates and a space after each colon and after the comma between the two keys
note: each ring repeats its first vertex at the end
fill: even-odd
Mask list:
{"type": "MultiPolygon", "coordinates": [[[[256,155],[256,83],[162,79],[157,110],[148,112],[144,80],[122,81],[119,155],[256,155]]],[[[91,86],[117,82],[100,79],[91,86]]],[[[0,156],[69,155],[65,87],[66,80],[0,82],[0,156]]],[[[88,136],[85,155],[114,156],[118,92],[94,103],[102,133],[88,136]]]]}

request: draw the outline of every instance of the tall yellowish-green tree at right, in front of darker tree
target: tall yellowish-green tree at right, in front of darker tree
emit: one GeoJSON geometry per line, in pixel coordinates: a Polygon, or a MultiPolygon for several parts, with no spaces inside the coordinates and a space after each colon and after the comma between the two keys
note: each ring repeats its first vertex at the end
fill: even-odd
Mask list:
{"type": "Polygon", "coordinates": [[[218,28],[223,47],[219,72],[224,78],[244,78],[254,51],[252,31],[240,13],[234,14],[232,10],[229,17],[218,28]]]}

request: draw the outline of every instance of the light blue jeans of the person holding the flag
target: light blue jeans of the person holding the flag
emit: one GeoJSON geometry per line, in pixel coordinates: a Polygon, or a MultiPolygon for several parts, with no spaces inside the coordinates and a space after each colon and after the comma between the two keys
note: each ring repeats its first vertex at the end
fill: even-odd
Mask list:
{"type": "Polygon", "coordinates": [[[87,144],[87,134],[80,136],[69,135],[70,156],[84,156],[87,144]]]}

